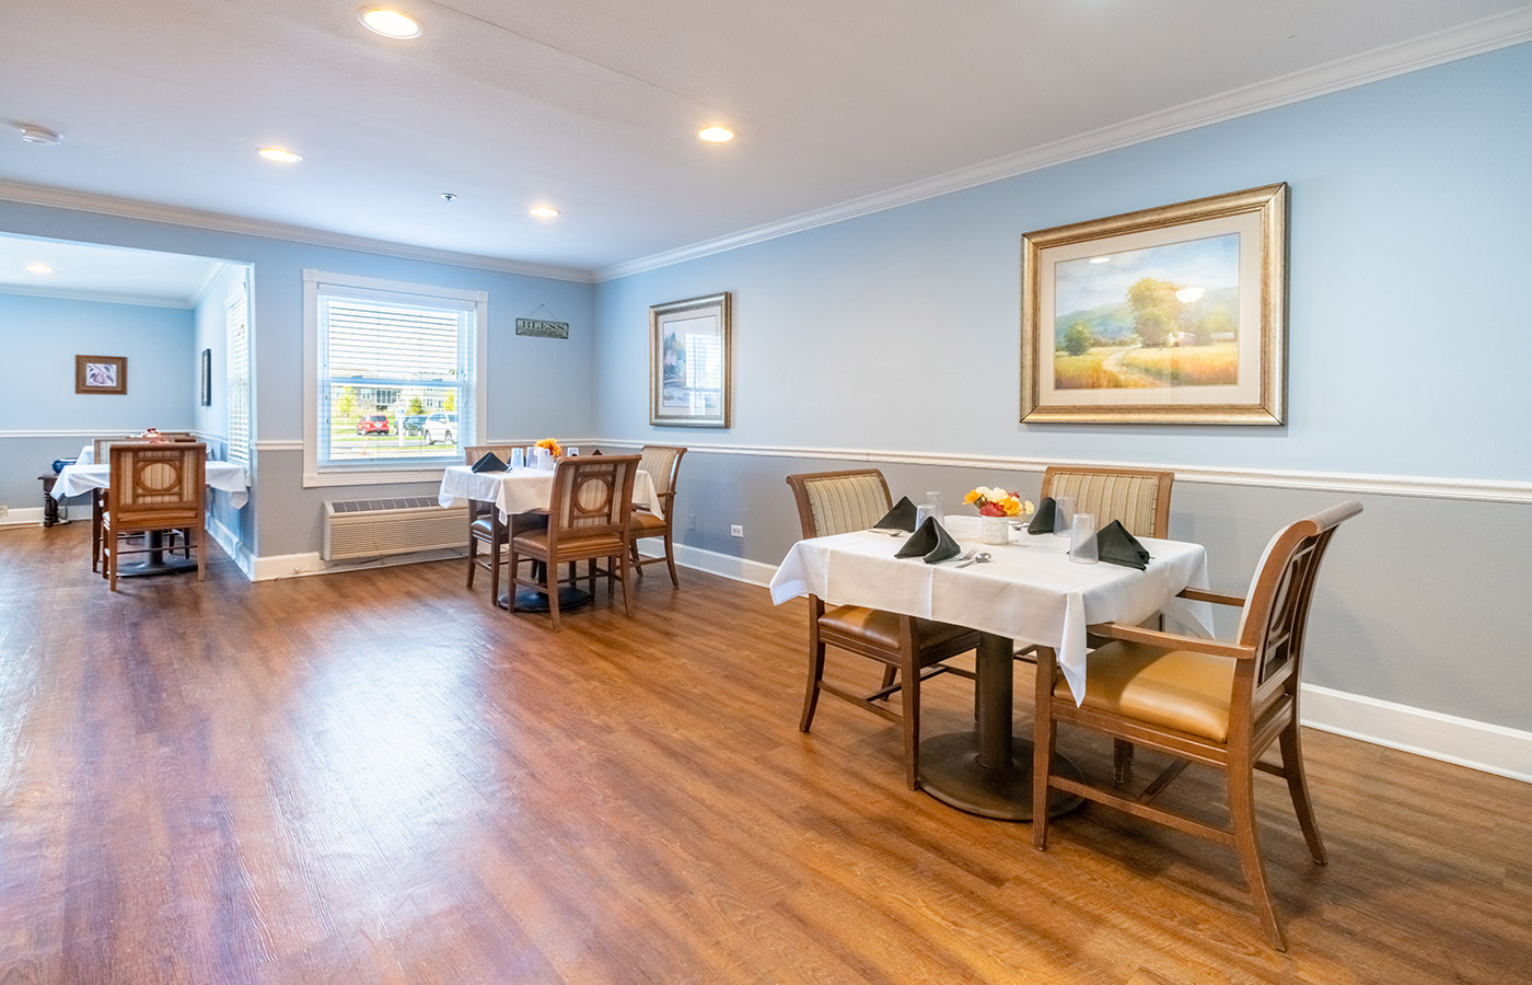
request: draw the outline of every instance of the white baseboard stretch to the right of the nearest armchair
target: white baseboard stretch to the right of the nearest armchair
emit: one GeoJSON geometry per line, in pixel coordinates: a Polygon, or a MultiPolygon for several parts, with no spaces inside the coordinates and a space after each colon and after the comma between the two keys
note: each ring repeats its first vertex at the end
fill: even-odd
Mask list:
{"type": "Polygon", "coordinates": [[[1532,783],[1532,732],[1304,685],[1304,725],[1532,783]]]}

